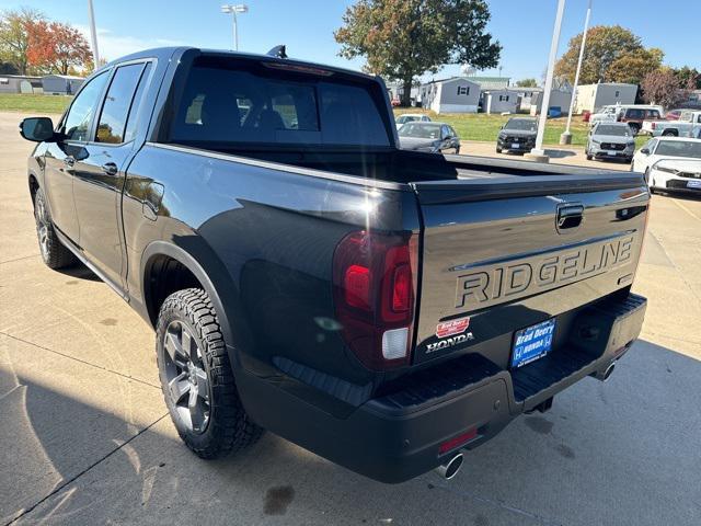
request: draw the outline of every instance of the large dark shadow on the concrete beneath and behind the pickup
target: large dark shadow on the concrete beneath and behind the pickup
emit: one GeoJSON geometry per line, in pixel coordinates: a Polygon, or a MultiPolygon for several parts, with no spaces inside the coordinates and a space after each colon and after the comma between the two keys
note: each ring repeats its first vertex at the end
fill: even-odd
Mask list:
{"type": "Polygon", "coordinates": [[[427,473],[398,485],[272,434],[237,457],[200,460],[168,416],[143,431],[128,404],[105,411],[92,396],[5,369],[0,361],[0,414],[13,423],[0,431],[3,523],[21,510],[31,511],[20,524],[692,525],[701,517],[692,396],[701,362],[645,341],[609,382],[585,379],[552,411],[522,416],[468,453],[453,480],[427,473]]]}

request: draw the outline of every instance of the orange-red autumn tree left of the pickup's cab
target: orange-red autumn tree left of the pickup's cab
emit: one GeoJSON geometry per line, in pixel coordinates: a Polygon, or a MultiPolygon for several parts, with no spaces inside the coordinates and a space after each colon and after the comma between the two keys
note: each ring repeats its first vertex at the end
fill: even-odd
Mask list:
{"type": "Polygon", "coordinates": [[[68,75],[83,67],[91,58],[90,46],[77,28],[59,22],[39,21],[31,27],[27,60],[46,72],[68,75]]]}

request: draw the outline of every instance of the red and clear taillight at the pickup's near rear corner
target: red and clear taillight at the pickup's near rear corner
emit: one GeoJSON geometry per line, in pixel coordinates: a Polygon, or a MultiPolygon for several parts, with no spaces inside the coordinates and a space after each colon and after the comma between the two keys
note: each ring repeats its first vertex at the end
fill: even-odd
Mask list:
{"type": "Polygon", "coordinates": [[[343,238],[334,252],[336,318],[350,350],[371,369],[410,362],[416,239],[361,230],[343,238]]]}

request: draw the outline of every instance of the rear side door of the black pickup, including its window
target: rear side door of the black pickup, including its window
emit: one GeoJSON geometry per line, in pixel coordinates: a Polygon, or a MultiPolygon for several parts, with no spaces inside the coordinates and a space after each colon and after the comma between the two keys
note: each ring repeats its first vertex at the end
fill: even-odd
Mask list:
{"type": "Polygon", "coordinates": [[[125,168],[134,152],[136,115],[150,62],[120,65],[110,79],[85,155],[76,162],[73,195],[79,243],[112,285],[124,288],[126,250],[119,203],[125,168]]]}

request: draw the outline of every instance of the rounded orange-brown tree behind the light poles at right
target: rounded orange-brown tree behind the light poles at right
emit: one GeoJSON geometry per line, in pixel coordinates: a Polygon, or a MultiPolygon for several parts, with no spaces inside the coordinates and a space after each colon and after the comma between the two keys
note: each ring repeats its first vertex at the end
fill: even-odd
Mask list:
{"type": "MultiPolygon", "coordinates": [[[[579,57],[579,46],[582,44],[582,33],[570,41],[570,47],[555,64],[555,75],[566,78],[574,83],[574,76],[577,69],[579,57]]],[[[644,70],[642,61],[645,58],[662,61],[662,52],[655,48],[645,49],[639,36],[620,25],[597,25],[587,31],[587,43],[584,49],[579,83],[590,84],[596,82],[612,81],[612,75],[623,78],[625,67],[636,68],[636,71],[644,70]],[[647,53],[648,55],[645,55],[647,53]],[[618,62],[621,60],[621,62],[618,62]],[[618,62],[618,64],[616,64],[618,62]],[[616,66],[614,66],[616,65],[616,66]]],[[[637,79],[642,80],[645,73],[637,79]]],[[[632,79],[635,80],[635,79],[632,79]]]]}

